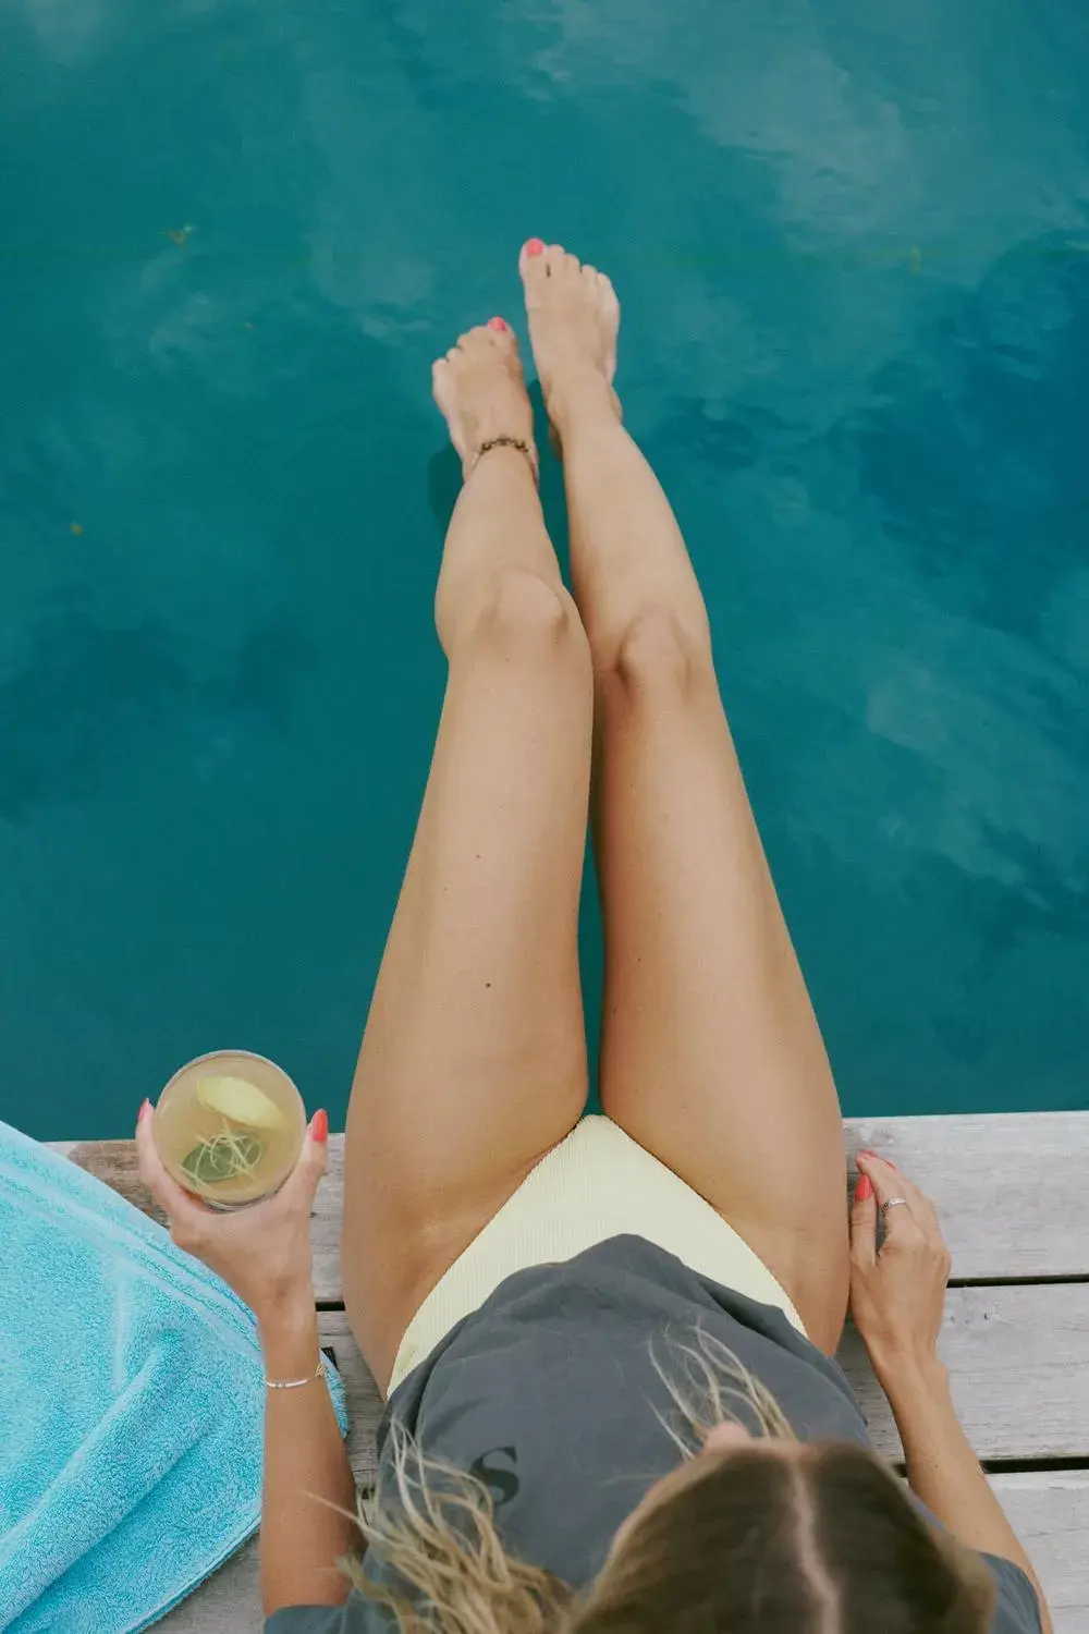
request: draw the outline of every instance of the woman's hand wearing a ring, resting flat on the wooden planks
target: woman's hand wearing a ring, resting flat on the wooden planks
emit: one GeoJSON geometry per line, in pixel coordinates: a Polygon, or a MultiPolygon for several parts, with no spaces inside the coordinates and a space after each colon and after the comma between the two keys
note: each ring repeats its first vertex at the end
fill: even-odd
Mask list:
{"type": "Polygon", "coordinates": [[[934,1204],[900,1170],[873,1152],[859,1152],[860,1180],[851,1211],[851,1315],[882,1384],[890,1374],[939,1366],[949,1248],[934,1204]],[[885,1242],[878,1252],[878,1209],[885,1242]]]}

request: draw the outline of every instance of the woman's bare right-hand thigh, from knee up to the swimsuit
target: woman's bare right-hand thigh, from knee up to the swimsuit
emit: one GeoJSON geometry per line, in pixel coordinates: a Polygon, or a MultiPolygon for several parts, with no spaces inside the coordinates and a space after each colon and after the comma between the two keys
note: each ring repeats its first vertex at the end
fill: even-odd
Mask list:
{"type": "Polygon", "coordinates": [[[599,676],[604,1109],[727,1217],[834,1350],[842,1123],[710,649],[648,618],[599,676]]]}

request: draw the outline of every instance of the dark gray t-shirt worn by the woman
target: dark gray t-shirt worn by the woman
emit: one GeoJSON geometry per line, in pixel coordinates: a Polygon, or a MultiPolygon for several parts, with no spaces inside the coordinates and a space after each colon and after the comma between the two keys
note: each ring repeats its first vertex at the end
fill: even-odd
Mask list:
{"type": "MultiPolygon", "coordinates": [[[[676,1377],[676,1346],[691,1346],[697,1330],[771,1391],[802,1440],[869,1444],[842,1371],[780,1310],[642,1237],[612,1237],[573,1260],[516,1271],[451,1328],[387,1404],[379,1485],[397,1417],[424,1453],[488,1485],[508,1549],[581,1587],[647,1489],[681,1461],[660,1415],[682,1423],[653,1358],[676,1377]]],[[[993,1634],[1040,1634],[1029,1578],[1009,1560],[985,1559],[999,1590],[993,1634]]],[[[264,1624],[264,1634],[387,1629],[354,1590],[344,1606],[289,1606],[264,1624]]]]}

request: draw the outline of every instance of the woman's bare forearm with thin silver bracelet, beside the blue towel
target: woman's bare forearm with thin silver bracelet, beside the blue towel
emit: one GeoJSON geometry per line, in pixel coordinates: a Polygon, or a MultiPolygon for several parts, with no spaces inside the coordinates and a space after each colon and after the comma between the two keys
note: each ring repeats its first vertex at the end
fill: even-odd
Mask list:
{"type": "MultiPolygon", "coordinates": [[[[269,1379],[305,1379],[318,1366],[313,1301],[297,1299],[261,1322],[269,1379]]],[[[348,1578],[340,1556],[359,1547],[356,1484],[325,1377],[266,1391],[261,1598],[282,1606],[338,1606],[348,1578]]]]}

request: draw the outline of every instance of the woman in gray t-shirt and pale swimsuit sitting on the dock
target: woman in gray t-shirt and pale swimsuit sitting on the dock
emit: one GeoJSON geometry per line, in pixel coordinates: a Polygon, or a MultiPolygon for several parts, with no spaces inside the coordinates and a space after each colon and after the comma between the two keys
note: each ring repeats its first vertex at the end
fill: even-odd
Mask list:
{"type": "Polygon", "coordinates": [[[1048,1627],[937,1361],[934,1211],[870,1152],[846,1219],[836,1090],[704,601],[620,425],[612,286],[540,240],[521,275],[575,593],[491,319],[434,366],[465,475],[436,596],[449,685],[348,1116],[344,1292],[390,1392],[351,1595],[310,1288],[325,1116],[284,1191],[229,1217],[139,1129],[175,1240],[260,1322],[268,1634],[1048,1627]],[[591,743],[606,1118],[581,1119],[591,743]],[[914,1498],[829,1359],[849,1291],[914,1498]]]}

